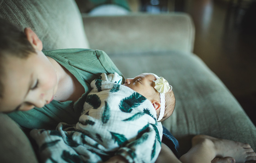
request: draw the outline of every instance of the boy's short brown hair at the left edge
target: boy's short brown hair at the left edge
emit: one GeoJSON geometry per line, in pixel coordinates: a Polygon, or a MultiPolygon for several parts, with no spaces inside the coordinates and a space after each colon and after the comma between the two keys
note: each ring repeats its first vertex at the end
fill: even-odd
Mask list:
{"type": "Polygon", "coordinates": [[[36,53],[25,33],[9,21],[0,18],[0,98],[3,97],[4,60],[7,56],[27,58],[36,53]]]}

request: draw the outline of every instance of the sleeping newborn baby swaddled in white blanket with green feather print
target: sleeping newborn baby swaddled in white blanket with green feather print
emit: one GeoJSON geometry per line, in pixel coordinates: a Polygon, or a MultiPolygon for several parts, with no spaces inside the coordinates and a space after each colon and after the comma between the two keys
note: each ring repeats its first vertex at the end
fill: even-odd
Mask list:
{"type": "MultiPolygon", "coordinates": [[[[76,127],[87,130],[103,151],[114,152],[127,162],[155,162],[161,149],[160,122],[175,106],[172,87],[152,73],[126,79],[123,85],[121,82],[117,73],[103,73],[91,82],[92,90],[76,127]],[[86,121],[95,124],[84,124],[86,121]]],[[[91,159],[93,156],[90,161],[94,161],[91,159]]]]}

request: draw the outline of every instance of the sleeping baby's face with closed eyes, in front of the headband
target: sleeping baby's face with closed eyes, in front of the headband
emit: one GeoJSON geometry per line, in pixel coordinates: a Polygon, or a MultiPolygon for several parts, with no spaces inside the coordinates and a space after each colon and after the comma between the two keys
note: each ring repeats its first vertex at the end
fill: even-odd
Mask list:
{"type": "Polygon", "coordinates": [[[153,80],[156,80],[156,77],[153,74],[143,73],[134,78],[126,79],[123,85],[131,88],[151,101],[153,97],[160,96],[156,89],[154,89],[155,84],[153,80]]]}

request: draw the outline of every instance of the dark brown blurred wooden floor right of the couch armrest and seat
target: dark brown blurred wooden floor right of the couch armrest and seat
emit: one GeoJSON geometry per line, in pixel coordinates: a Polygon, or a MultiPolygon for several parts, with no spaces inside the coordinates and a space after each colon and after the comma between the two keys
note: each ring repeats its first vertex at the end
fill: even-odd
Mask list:
{"type": "MultiPolygon", "coordinates": [[[[224,82],[256,125],[256,35],[249,29],[242,32],[243,10],[236,16],[232,8],[227,17],[228,5],[190,0],[183,10],[195,23],[194,53],[224,82]]],[[[255,18],[251,15],[252,21],[255,18]]]]}

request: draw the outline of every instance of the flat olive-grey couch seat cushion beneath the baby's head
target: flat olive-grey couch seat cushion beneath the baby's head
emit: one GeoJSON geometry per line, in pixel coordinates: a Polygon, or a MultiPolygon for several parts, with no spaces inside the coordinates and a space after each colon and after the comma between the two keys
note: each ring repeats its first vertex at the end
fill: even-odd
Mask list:
{"type": "Polygon", "coordinates": [[[225,85],[196,55],[170,51],[120,54],[111,59],[126,78],[151,72],[172,85],[176,106],[163,126],[178,139],[181,155],[190,149],[191,138],[197,134],[249,143],[255,150],[254,124],[225,85]]]}

